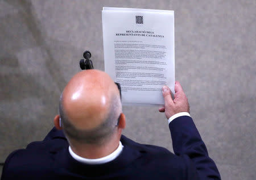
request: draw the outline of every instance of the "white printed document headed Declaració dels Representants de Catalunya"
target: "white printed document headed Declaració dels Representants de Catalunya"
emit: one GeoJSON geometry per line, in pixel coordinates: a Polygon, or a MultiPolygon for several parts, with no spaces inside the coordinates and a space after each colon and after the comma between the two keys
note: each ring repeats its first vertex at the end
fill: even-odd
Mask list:
{"type": "Polygon", "coordinates": [[[174,11],[104,7],[105,72],[120,83],[123,104],[164,104],[175,84],[174,11]]]}

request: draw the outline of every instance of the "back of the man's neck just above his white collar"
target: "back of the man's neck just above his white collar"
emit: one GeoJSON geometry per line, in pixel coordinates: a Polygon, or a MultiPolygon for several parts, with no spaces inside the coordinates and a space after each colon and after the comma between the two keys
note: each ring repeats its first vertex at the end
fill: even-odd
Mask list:
{"type": "Polygon", "coordinates": [[[118,148],[119,140],[109,141],[103,145],[70,143],[71,149],[78,156],[88,159],[96,159],[108,156],[118,148]]]}

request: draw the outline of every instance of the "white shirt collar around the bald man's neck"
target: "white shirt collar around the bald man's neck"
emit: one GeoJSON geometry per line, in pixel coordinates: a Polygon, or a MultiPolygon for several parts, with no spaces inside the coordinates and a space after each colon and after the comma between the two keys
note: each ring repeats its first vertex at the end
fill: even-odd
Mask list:
{"type": "Polygon", "coordinates": [[[104,164],[106,162],[110,162],[119,156],[119,154],[122,152],[122,149],[123,149],[123,145],[121,141],[119,141],[118,148],[115,149],[114,152],[109,154],[108,156],[97,158],[97,159],[88,159],[88,158],[78,156],[73,152],[73,150],[71,149],[71,146],[68,147],[69,153],[75,160],[82,162],[84,164],[90,164],[90,165],[104,164]]]}

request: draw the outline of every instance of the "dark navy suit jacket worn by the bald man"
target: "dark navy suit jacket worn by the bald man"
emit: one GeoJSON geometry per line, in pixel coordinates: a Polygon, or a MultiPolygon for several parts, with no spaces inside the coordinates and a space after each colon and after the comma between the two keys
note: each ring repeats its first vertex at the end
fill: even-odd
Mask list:
{"type": "Polygon", "coordinates": [[[63,131],[53,128],[43,141],[11,153],[1,179],[220,179],[193,120],[181,116],[169,127],[175,154],[122,135],[122,153],[101,165],[73,159],[63,131]]]}

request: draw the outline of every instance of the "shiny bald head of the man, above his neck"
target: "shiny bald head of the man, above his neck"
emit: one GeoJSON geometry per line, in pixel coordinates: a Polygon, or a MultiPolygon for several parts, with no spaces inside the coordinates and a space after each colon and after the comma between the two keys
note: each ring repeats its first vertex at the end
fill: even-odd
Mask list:
{"type": "Polygon", "coordinates": [[[60,98],[66,136],[84,143],[97,143],[110,136],[121,112],[117,85],[100,70],[77,73],[60,98]]]}

